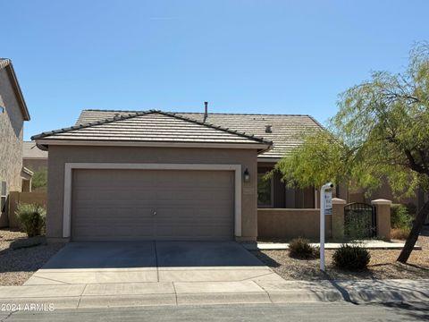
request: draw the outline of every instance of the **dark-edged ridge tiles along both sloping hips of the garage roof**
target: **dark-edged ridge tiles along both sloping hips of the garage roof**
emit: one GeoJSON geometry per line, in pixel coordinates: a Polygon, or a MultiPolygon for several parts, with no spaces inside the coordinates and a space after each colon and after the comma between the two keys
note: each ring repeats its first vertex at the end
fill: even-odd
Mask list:
{"type": "Polygon", "coordinates": [[[191,119],[191,118],[186,117],[186,116],[176,115],[172,112],[164,112],[161,110],[147,110],[147,111],[131,112],[131,113],[132,114],[128,114],[128,115],[115,115],[114,117],[106,118],[105,120],[99,120],[99,121],[90,122],[90,123],[81,123],[79,125],[73,125],[73,126],[70,126],[67,128],[63,128],[63,129],[41,132],[40,134],[33,135],[30,139],[31,140],[38,140],[38,139],[44,138],[44,137],[52,135],[52,134],[64,133],[64,132],[73,131],[73,130],[86,129],[88,127],[95,126],[95,125],[103,125],[103,124],[107,124],[107,123],[113,123],[116,121],[128,120],[130,118],[134,118],[137,116],[157,113],[157,114],[164,114],[166,116],[171,116],[171,117],[174,117],[176,119],[180,119],[182,121],[197,123],[199,125],[204,125],[206,127],[212,128],[212,129],[216,129],[216,130],[220,130],[220,131],[226,131],[228,133],[231,133],[234,135],[239,135],[241,137],[248,138],[250,140],[256,140],[256,141],[261,142],[261,143],[273,144],[273,141],[265,140],[264,138],[257,137],[254,134],[247,134],[246,132],[242,132],[242,131],[233,131],[233,130],[230,130],[228,128],[223,128],[220,125],[214,125],[212,123],[203,123],[203,122],[191,119]]]}

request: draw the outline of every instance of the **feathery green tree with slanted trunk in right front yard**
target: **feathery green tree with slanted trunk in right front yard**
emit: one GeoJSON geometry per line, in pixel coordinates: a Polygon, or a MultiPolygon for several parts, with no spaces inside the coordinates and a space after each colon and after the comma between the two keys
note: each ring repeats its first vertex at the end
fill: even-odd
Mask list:
{"type": "MultiPolygon", "coordinates": [[[[372,190],[385,178],[399,196],[415,193],[417,187],[429,191],[427,43],[413,47],[404,72],[373,72],[370,80],[343,92],[338,106],[329,131],[307,135],[278,163],[288,184],[348,182],[372,190]]],[[[429,211],[425,206],[421,211],[429,211]]],[[[427,216],[421,211],[408,246],[420,231],[416,225],[423,225],[420,217],[427,216]]]]}

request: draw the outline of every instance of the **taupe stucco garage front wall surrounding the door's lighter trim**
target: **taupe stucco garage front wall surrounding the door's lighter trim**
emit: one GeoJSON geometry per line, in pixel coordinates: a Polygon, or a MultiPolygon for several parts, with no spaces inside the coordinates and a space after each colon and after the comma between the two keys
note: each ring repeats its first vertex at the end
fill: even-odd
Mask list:
{"type": "Polygon", "coordinates": [[[248,168],[250,181],[242,182],[241,240],[257,238],[256,149],[50,146],[46,222],[48,238],[63,236],[64,164],[77,162],[242,165],[243,172],[248,168]]]}

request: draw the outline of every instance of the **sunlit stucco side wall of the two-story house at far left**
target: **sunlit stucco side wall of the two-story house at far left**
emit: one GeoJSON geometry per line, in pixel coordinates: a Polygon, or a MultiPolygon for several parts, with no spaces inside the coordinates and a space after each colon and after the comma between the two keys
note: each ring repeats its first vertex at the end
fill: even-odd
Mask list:
{"type": "Polygon", "coordinates": [[[21,191],[23,117],[6,69],[0,70],[0,182],[21,191]]]}

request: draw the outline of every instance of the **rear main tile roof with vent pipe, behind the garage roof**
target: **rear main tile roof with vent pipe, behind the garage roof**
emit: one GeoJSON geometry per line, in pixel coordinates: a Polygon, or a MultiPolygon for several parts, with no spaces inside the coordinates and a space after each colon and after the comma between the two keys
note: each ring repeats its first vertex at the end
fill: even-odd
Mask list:
{"type": "MultiPolygon", "coordinates": [[[[118,110],[84,110],[81,112],[78,122],[88,123],[113,117],[114,115],[128,115],[139,113],[138,111],[118,110]]],[[[203,121],[204,113],[181,113],[191,119],[203,121]]],[[[259,157],[279,158],[290,152],[302,143],[302,133],[311,133],[323,129],[320,123],[309,115],[301,114],[217,114],[209,113],[206,119],[208,123],[214,123],[223,127],[251,133],[265,140],[273,141],[273,148],[265,151],[259,157]],[[272,132],[265,132],[265,126],[271,125],[272,132]]]]}

